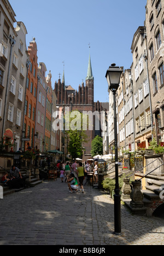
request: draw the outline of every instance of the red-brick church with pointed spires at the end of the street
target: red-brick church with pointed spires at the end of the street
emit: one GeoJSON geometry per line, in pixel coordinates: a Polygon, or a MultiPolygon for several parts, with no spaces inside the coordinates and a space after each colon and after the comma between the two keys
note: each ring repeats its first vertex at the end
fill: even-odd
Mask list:
{"type": "MultiPolygon", "coordinates": [[[[102,110],[108,110],[108,103],[101,103],[99,101],[94,102],[94,77],[92,74],[91,67],[91,57],[89,56],[89,65],[87,69],[87,77],[85,80],[85,85],[79,85],[79,90],[74,90],[71,85],[65,85],[65,73],[63,72],[62,82],[58,79],[58,83],[55,82],[55,94],[57,97],[56,106],[70,107],[71,111],[78,110],[79,112],[89,112],[92,113],[98,111],[99,114],[102,110]]],[[[99,118],[100,119],[100,118],[99,118]]],[[[87,130],[86,134],[88,136],[88,142],[84,143],[84,154],[83,161],[91,158],[91,142],[92,139],[97,135],[101,136],[101,124],[99,124],[100,129],[95,129],[95,117],[93,118],[93,129],[87,130]]]]}

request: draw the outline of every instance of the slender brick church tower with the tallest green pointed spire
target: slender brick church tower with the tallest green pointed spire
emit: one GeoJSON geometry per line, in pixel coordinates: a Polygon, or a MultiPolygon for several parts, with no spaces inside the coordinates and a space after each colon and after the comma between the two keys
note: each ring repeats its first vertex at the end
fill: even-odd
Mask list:
{"type": "Polygon", "coordinates": [[[89,55],[89,63],[87,68],[87,77],[85,81],[87,92],[88,92],[88,104],[94,104],[94,78],[92,74],[91,56],[89,55]]]}

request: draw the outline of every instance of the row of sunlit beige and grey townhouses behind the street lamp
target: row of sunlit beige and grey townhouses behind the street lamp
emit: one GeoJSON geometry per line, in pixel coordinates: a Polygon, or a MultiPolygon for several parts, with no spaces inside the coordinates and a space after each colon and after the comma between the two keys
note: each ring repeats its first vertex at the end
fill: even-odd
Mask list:
{"type": "MultiPolygon", "coordinates": [[[[164,142],[164,1],[148,0],[144,26],[132,40],[133,62],[121,75],[117,94],[118,147],[148,148],[164,142]]],[[[113,95],[109,91],[109,152],[114,146],[113,95]]]]}

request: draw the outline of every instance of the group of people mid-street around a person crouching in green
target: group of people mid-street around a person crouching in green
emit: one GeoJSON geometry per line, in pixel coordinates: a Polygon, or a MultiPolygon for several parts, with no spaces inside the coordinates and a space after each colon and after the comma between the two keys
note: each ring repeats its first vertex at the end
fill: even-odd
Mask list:
{"type": "MultiPolygon", "coordinates": [[[[94,174],[95,174],[95,183],[98,183],[98,162],[95,162],[94,167],[94,174]]],[[[72,166],[69,162],[65,165],[63,162],[58,162],[57,168],[60,170],[60,178],[61,182],[64,181],[68,184],[69,193],[73,193],[73,190],[75,190],[75,193],[78,191],[78,186],[80,185],[80,191],[84,193],[84,178],[85,174],[87,173],[87,167],[89,165],[83,166],[82,162],[78,162],[77,160],[74,161],[72,166]]]]}

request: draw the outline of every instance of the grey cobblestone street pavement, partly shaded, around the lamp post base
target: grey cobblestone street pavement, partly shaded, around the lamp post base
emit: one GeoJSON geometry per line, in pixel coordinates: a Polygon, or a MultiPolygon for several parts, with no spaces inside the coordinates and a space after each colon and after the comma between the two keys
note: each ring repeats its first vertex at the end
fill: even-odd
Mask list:
{"type": "Polygon", "coordinates": [[[0,200],[0,245],[164,245],[164,220],[132,215],[121,206],[122,234],[114,232],[114,202],[90,185],[68,193],[44,181],[0,200]]]}

